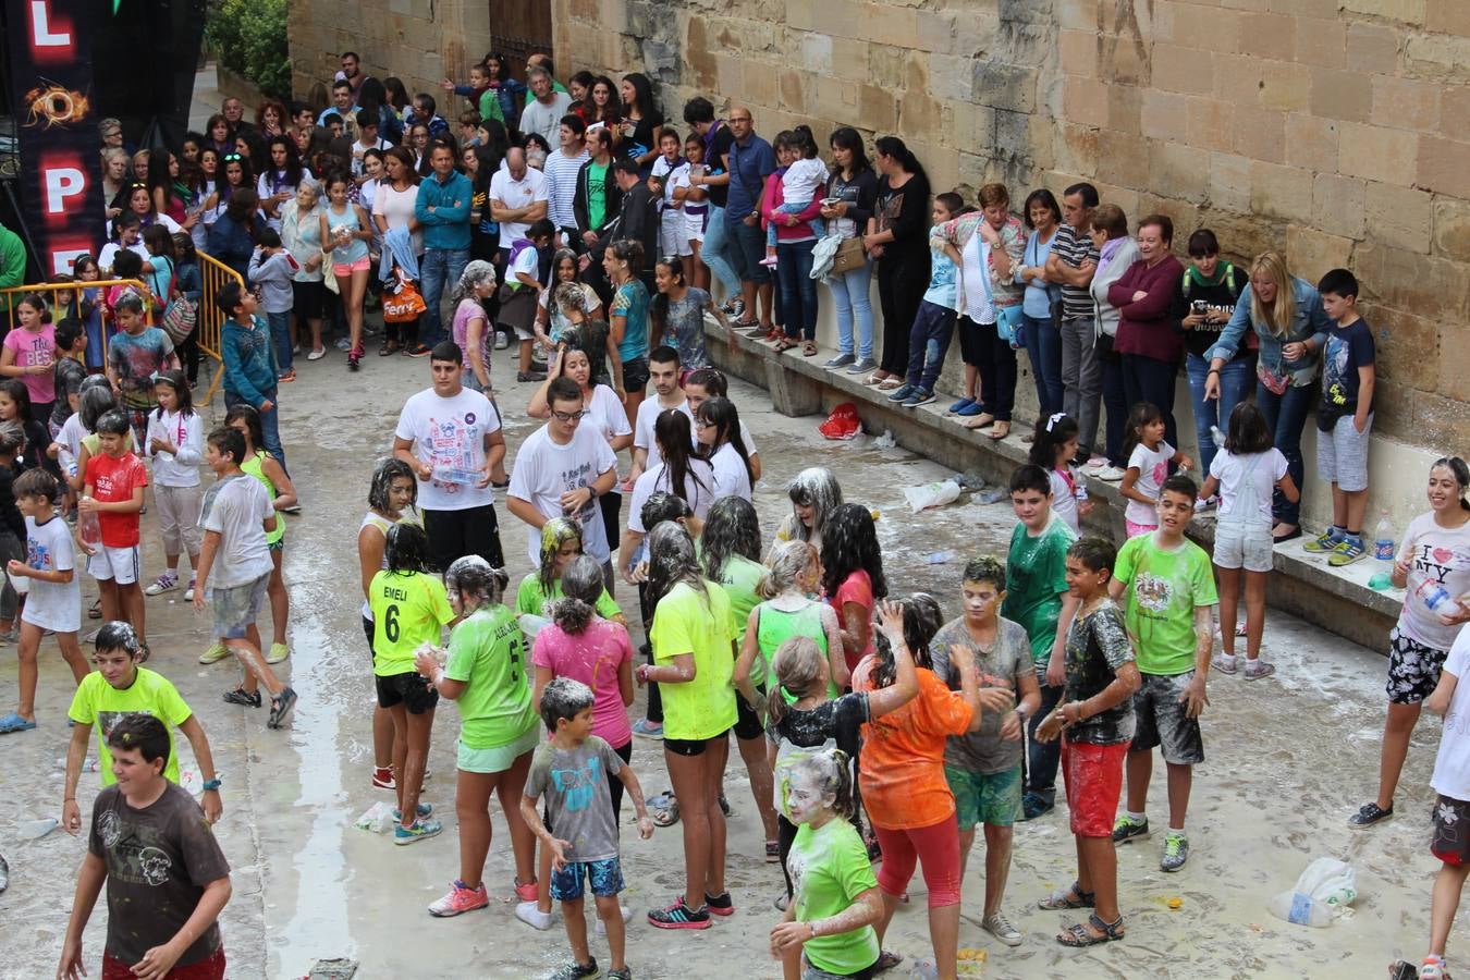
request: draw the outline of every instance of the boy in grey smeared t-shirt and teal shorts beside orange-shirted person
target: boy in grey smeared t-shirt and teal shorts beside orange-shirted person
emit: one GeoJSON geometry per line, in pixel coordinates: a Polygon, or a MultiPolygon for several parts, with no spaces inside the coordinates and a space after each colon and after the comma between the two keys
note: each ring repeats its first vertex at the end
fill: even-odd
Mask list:
{"type": "Polygon", "coordinates": [[[979,732],[951,735],[944,748],[944,774],[954,792],[960,821],[960,879],[975,846],[975,827],[985,824],[985,917],[980,927],[1008,946],[1019,946],[1020,930],[1001,914],[1005,877],[1010,874],[1011,827],[1022,815],[1022,729],[1041,704],[1030,644],[1020,623],[1000,616],[1005,601],[1005,566],[976,558],[964,566],[960,582],[963,616],[945,623],[929,641],[933,671],[960,689],[960,671],[950,660],[951,646],[975,652],[980,671],[979,732]]]}

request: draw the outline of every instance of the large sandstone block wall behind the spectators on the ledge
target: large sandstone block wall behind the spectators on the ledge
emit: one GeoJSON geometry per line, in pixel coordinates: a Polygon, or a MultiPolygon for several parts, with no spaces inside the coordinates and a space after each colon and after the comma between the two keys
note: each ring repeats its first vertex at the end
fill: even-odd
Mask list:
{"type": "MultiPolygon", "coordinates": [[[[898,134],[936,190],[1086,178],[1236,259],[1345,264],[1377,430],[1470,448],[1467,0],[553,0],[559,65],[898,134]]],[[[1179,242],[1182,247],[1182,241],[1179,242]]],[[[1026,382],[1022,382],[1023,386],[1026,382]]]]}

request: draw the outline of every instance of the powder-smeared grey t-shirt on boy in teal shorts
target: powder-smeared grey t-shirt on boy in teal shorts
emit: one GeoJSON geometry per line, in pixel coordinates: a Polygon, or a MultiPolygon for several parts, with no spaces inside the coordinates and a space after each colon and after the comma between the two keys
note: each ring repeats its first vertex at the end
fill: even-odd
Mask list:
{"type": "MultiPolygon", "coordinates": [[[[1011,692],[1014,699],[1020,699],[1022,677],[1036,673],[1030,661],[1026,629],[1005,617],[998,617],[997,621],[995,644],[988,652],[979,649],[970,630],[964,626],[963,616],[945,623],[929,641],[933,673],[951,691],[960,689],[960,671],[950,663],[950,646],[969,646],[975,651],[980,688],[1004,688],[1011,692]]],[[[1011,742],[1001,738],[1001,721],[1004,720],[1003,713],[986,711],[979,732],[951,735],[944,746],[944,764],[972,773],[1004,773],[1020,765],[1022,741],[1011,742]]]]}

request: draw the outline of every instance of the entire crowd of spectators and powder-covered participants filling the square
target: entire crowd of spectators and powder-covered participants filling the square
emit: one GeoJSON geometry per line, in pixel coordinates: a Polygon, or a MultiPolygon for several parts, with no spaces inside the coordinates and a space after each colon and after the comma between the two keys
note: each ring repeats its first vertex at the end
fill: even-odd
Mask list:
{"type": "MultiPolygon", "coordinates": [[[[297,376],[300,344],[319,360],[332,332],[360,370],[370,306],[384,313],[378,353],[426,357],[432,383],[400,413],[356,538],[378,704],[363,780],[394,793],[394,843],[442,833],[420,796],[438,699],[457,702],[460,867],[431,915],[490,905],[494,795],[516,917],[547,930],[560,905],[572,959],[554,976],[600,976],[589,887],[606,976],[631,977],[632,912],[617,899],[623,796],[639,835],[678,823],[682,836],[684,887],[647,921],[709,929],[732,915],[723,782],[734,732],[763,857],[785,873],[770,954],[788,979],[894,967],[883,939],[919,870],[933,968],[953,980],[961,882],[982,826],[982,927],[1023,943],[1004,908],[1013,829],[1055,807],[1058,770],[1078,874],[1041,907],[1083,915],[1057,933],[1066,946],[1123,939],[1114,848],[1150,835],[1154,749],[1169,801],[1160,868],[1175,873],[1189,860],[1210,673],[1274,671],[1260,649],[1266,588],[1273,548],[1302,536],[1299,439],[1313,411],[1333,523],[1304,548],[1332,566],[1367,551],[1374,350],[1354,275],[1335,269],[1313,287],[1276,251],[1241,269],[1208,229],[1189,235],[1186,266],[1167,216],[1130,229],[1086,182],[1060,201],[1035,190],[1019,216],[1001,184],[972,206],[958,191],[935,194],[897,137],[878,138],[870,157],[856,129],[838,128],[828,162],[806,126],[767,143],[748,109],[717,118],[704,97],[684,106],[681,132],[637,72],[616,84],[578,72],[563,87],[538,54],[520,85],[492,53],[467,84],[444,79],[467,106],[450,112],[451,126],[432,94],[409,98],[397,79],[365,76],[353,53],[341,69],[323,87],[331,104],[268,101],[251,123],[228,100],[176,151],[128,157],[121,126],[104,120],[112,241],[78,260],[74,291],[15,303],[0,356],[0,511],[10,511],[0,629],[18,633],[22,669],[0,732],[35,727],[37,649],[54,632],[78,682],[68,830],[82,829],[76,793],[94,727],[107,786],[59,976],[81,970],[81,929],[104,882],[110,899],[138,887],[119,840],[144,824],[178,855],[171,893],[146,921],[110,901],[106,968],[223,976],[215,917],[228,864],[210,835],[176,818],[196,804],[169,782],[175,729],[206,779],[210,821],[219,779],[188,705],[141,666],[144,597],[182,585],[187,552],[185,598],[213,607],[218,638],[201,663],[232,654],[241,679],[225,701],[269,704],[268,727],[288,724],[297,695],[273,669],[291,652],[278,514],[295,510],[295,488],[278,395],[297,376]],[[215,297],[229,411],[207,435],[185,329],[201,295],[197,251],[245,282],[215,297]],[[144,288],[85,285],[100,278],[144,288]],[[1017,351],[1030,360],[1041,410],[1025,433],[1029,461],[1007,486],[1008,551],[967,560],[950,595],[889,582],[873,514],[845,500],[839,475],[764,475],[710,361],[707,316],[778,353],[819,356],[819,287],[838,320],[826,367],[903,407],[935,401],[958,334],[963,397],[948,411],[991,439],[1011,436],[1017,351]],[[501,411],[516,408],[490,366],[512,339],[514,379],[534,385],[522,389],[525,414],[544,425],[507,458],[501,411]],[[1177,448],[1180,367],[1198,467],[1177,448]],[[201,461],[216,476],[207,488],[201,461]],[[1119,544],[1082,536],[1095,505],[1088,476],[1120,485],[1119,544]],[[763,479],[791,504],[769,542],[775,516],[754,505],[763,479]],[[141,588],[150,482],[168,564],[141,588]],[[1211,508],[1213,554],[1185,536],[1211,508]],[[532,569],[513,597],[506,513],[523,526],[532,569]],[[100,591],[104,621],[87,638],[96,673],[81,654],[68,519],[100,591]],[[620,588],[637,592],[637,621],[620,588]],[[266,599],[269,645],[256,627],[266,599]],[[639,688],[647,708],[631,721],[639,688]],[[663,748],[666,771],[642,776],[669,789],[647,798],[629,764],[635,736],[663,748]]],[[[1358,827],[1392,815],[1421,705],[1445,714],[1470,696],[1455,686],[1470,657],[1467,489],[1466,463],[1438,460],[1430,510],[1388,555],[1405,599],[1389,638],[1379,792],[1352,817],[1358,827]]],[[[1446,976],[1470,867],[1466,758],[1446,726],[1433,779],[1442,871],[1420,977],[1446,976]]]]}

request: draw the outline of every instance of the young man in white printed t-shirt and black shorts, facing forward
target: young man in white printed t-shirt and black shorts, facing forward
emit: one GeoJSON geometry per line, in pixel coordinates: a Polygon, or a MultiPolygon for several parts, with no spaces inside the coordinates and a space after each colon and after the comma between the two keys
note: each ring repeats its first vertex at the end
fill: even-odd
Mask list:
{"type": "Polygon", "coordinates": [[[463,359],[454,341],[429,353],[434,386],[403,406],[392,454],[419,478],[419,510],[435,567],[478,554],[500,569],[506,558],[490,483],[503,472],[506,436],[490,398],[460,383],[463,359]]]}

